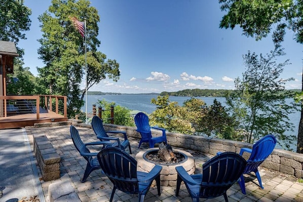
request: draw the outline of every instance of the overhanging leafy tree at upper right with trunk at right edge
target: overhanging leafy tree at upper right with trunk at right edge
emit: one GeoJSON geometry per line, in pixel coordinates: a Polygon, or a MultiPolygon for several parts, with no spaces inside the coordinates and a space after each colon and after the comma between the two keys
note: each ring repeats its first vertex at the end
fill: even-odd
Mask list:
{"type": "MultiPolygon", "coordinates": [[[[239,25],[243,34],[253,36],[257,40],[266,37],[272,28],[273,41],[282,42],[285,35],[285,29],[291,29],[294,32],[297,43],[303,43],[303,1],[292,0],[219,0],[221,10],[228,13],[223,16],[220,27],[234,28],[239,25]],[[275,26],[273,26],[275,25],[275,26]]],[[[303,74],[302,89],[303,92],[303,74]]],[[[297,97],[303,97],[303,93],[297,97]]],[[[301,102],[301,117],[297,135],[298,153],[303,153],[303,104],[301,102]]]]}

